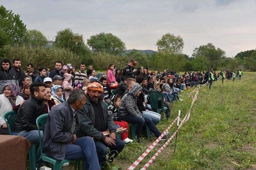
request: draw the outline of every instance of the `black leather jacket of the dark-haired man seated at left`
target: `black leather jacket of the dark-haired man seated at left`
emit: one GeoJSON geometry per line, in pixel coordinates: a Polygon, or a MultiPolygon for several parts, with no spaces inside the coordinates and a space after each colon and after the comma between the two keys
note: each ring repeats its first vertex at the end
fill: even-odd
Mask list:
{"type": "Polygon", "coordinates": [[[30,96],[18,109],[14,122],[14,132],[37,130],[36,118],[46,113],[44,103],[30,96]]]}

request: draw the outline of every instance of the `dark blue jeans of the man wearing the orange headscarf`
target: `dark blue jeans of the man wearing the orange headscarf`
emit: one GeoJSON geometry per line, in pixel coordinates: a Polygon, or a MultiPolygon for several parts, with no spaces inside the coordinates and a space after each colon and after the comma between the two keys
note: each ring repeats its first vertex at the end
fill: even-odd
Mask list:
{"type": "Polygon", "coordinates": [[[124,141],[122,141],[121,139],[116,139],[116,145],[113,146],[108,146],[106,145],[106,143],[101,141],[94,141],[94,143],[100,164],[102,163],[102,161],[105,160],[106,154],[108,154],[107,147],[110,149],[110,153],[108,154],[108,156],[111,159],[112,156],[114,156],[115,158],[124,149],[125,146],[124,141]]]}

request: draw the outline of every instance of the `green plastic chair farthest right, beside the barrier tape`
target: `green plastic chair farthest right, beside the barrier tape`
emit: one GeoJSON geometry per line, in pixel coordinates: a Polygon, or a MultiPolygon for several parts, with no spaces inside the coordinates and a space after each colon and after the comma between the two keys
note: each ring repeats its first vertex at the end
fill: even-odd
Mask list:
{"type": "Polygon", "coordinates": [[[156,113],[161,113],[161,111],[166,110],[167,107],[164,107],[164,96],[159,92],[150,92],[150,106],[152,110],[156,113]],[[161,100],[161,106],[158,108],[158,100],[161,100]]]}

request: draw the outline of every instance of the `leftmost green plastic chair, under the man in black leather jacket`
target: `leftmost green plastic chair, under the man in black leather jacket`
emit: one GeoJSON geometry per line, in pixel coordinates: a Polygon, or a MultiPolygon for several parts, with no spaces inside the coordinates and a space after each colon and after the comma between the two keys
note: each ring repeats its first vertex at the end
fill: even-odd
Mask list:
{"type": "MultiPolygon", "coordinates": [[[[4,116],[3,116],[10,135],[12,135],[12,129],[14,127],[16,116],[17,116],[16,111],[8,111],[4,113],[4,116]]],[[[29,155],[30,170],[34,170],[36,169],[36,145],[35,144],[31,144],[31,147],[28,151],[28,155],[29,155]]]]}

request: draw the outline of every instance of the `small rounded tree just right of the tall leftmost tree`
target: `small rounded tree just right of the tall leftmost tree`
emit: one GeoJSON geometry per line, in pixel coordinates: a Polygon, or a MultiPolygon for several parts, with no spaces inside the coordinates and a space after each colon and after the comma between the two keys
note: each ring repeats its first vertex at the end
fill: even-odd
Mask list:
{"type": "Polygon", "coordinates": [[[28,30],[25,35],[24,42],[30,44],[33,47],[45,46],[48,44],[46,37],[38,30],[28,30]]]}

